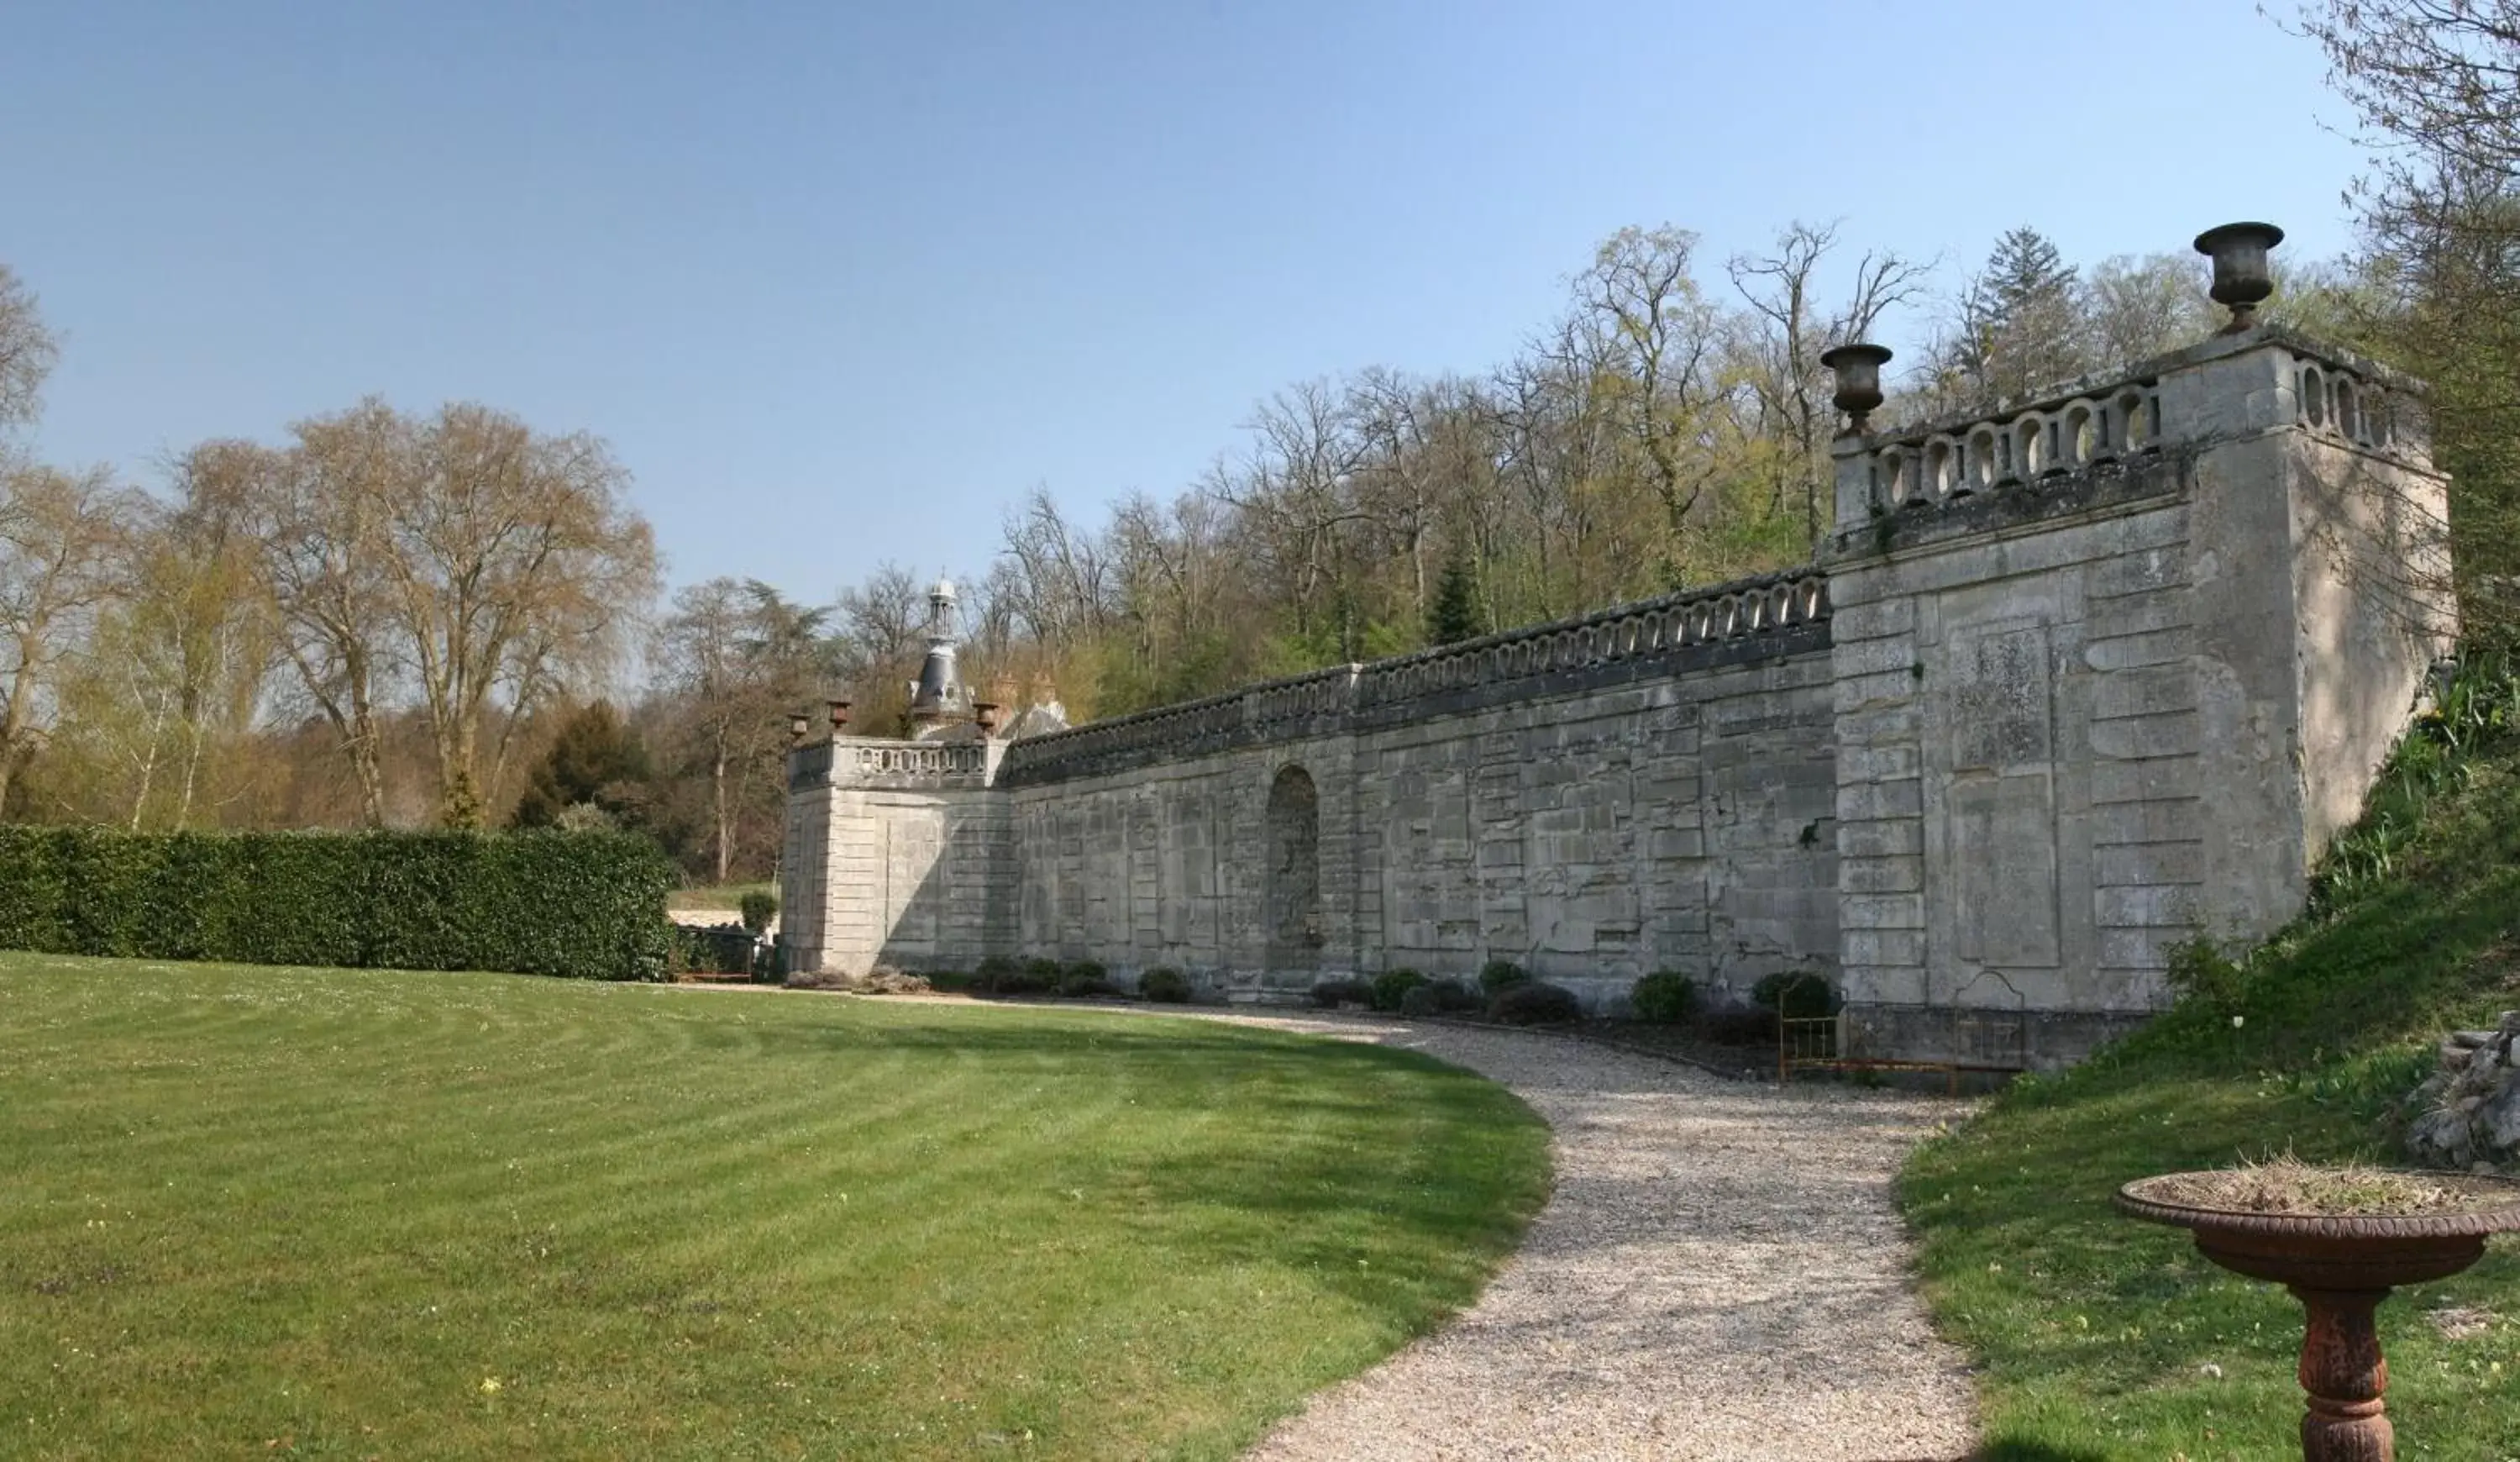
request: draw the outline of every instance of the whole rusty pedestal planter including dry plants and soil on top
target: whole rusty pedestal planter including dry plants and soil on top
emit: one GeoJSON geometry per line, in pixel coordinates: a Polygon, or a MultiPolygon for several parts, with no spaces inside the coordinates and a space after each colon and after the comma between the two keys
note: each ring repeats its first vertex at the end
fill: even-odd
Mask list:
{"type": "Polygon", "coordinates": [[[2487,1235],[2520,1230],[2520,1182],[2271,1165],[2145,1177],[2117,1190],[2117,1210],[2185,1228],[2213,1263],[2291,1288],[2306,1311],[2301,1454],[2391,1462],[2389,1361],[2371,1311],[2397,1286],[2477,1263],[2487,1235]]]}

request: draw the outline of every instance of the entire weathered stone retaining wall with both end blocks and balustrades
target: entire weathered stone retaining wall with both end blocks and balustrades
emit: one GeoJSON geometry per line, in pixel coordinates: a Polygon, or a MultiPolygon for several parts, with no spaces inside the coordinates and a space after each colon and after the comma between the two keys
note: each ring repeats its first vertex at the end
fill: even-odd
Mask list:
{"type": "Polygon", "coordinates": [[[1842,436],[1794,575],[1013,744],[791,759],[789,958],[1812,968],[1885,1056],[2076,1059],[2288,920],[2447,643],[2412,383],[2276,330],[1842,436]],[[922,761],[932,756],[935,761],[922,761]]]}

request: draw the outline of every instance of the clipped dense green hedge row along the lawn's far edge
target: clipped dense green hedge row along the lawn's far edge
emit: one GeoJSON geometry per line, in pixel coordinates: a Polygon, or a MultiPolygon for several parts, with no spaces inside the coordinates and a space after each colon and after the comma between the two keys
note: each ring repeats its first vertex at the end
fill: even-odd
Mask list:
{"type": "Polygon", "coordinates": [[[622,832],[0,824],[0,948],[665,978],[673,867],[622,832]]]}

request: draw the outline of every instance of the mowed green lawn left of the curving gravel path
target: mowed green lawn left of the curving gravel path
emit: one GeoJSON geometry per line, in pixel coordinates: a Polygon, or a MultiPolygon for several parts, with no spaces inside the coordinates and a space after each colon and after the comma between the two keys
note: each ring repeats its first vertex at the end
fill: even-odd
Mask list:
{"type": "Polygon", "coordinates": [[[0,953],[0,1457],[1230,1457],[1545,1192],[1373,1046],[0,953]]]}

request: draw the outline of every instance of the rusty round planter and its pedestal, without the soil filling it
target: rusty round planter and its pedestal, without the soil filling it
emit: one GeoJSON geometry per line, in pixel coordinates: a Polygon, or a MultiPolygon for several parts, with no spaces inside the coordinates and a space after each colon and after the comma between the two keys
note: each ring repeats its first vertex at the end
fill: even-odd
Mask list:
{"type": "Polygon", "coordinates": [[[2409,1175],[2444,1190],[2437,1207],[2407,1215],[2255,1212],[2187,1202],[2180,1187],[2225,1175],[2175,1172],[2117,1190],[2117,1210],[2195,1233],[2213,1263],[2301,1301],[2301,1419],[2306,1462],[2391,1462],[2397,1444],[2381,1391],[2389,1361],[2371,1311],[2397,1286],[2449,1278],[2485,1258],[2485,1238],[2520,1230],[2520,1182],[2475,1175],[2409,1175]],[[2172,1192],[2165,1192],[2172,1190],[2172,1192]]]}

